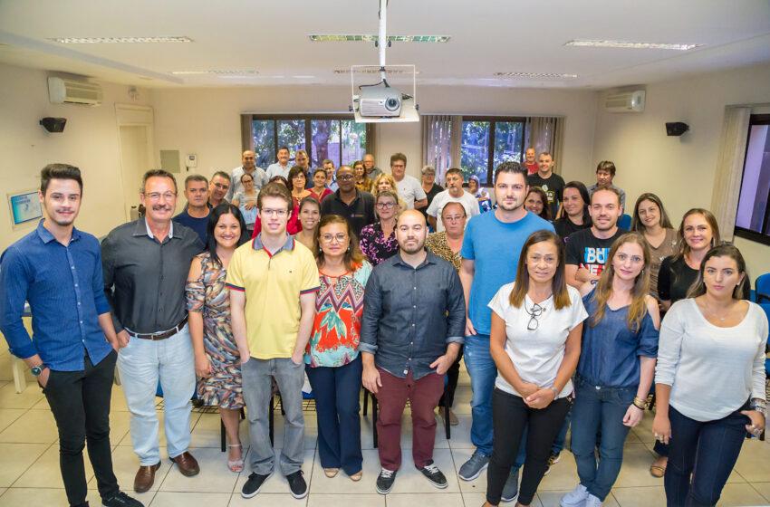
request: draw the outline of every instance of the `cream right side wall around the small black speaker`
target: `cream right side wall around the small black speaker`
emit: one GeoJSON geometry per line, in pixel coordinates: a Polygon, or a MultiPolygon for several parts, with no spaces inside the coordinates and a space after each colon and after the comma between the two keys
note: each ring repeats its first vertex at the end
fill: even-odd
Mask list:
{"type": "MultiPolygon", "coordinates": [[[[647,85],[642,113],[608,113],[598,101],[592,165],[612,160],[628,206],[644,192],[663,200],[672,222],[691,207],[711,206],[722,120],[729,104],[770,102],[770,65],[713,72],[647,85]],[[690,131],[668,137],[665,123],[690,131]]],[[[770,272],[770,247],[736,238],[752,277],[770,272]]]]}

